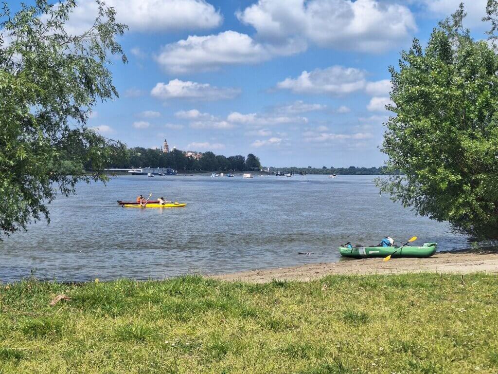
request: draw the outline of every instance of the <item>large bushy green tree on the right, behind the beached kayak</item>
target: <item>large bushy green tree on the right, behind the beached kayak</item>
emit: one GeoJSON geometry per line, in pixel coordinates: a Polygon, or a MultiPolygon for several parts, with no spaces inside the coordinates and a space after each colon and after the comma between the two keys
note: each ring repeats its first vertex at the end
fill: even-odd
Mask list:
{"type": "MultiPolygon", "coordinates": [[[[493,8],[495,4],[495,8],[493,8]]],[[[489,1],[488,14],[496,14],[489,1]],[[491,7],[490,7],[491,6],[491,7]]],[[[464,29],[463,5],[425,50],[415,39],[390,67],[394,112],[382,152],[381,191],[419,214],[478,238],[498,238],[498,56],[464,29]]]]}

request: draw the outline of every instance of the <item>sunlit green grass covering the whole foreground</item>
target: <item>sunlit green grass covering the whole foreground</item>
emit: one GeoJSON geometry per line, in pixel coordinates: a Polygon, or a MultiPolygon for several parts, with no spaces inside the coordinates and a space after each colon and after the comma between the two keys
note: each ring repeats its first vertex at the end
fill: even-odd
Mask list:
{"type": "Polygon", "coordinates": [[[497,373],[497,331],[486,274],[0,286],[1,374],[497,373]]]}

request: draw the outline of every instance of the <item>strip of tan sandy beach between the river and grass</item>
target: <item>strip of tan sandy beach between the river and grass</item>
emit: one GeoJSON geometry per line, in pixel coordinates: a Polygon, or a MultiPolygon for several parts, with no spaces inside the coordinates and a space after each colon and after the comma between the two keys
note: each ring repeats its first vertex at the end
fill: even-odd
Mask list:
{"type": "Polygon", "coordinates": [[[417,272],[498,274],[498,253],[459,251],[436,253],[430,258],[342,259],[338,262],[306,264],[275,269],[251,270],[211,277],[228,281],[264,283],[273,279],[309,281],[332,274],[400,274],[417,272]]]}

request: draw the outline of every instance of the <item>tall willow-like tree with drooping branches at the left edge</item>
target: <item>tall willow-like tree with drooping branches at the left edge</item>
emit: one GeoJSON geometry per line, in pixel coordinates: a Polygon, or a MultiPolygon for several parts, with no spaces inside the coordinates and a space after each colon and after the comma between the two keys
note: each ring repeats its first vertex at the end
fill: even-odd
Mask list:
{"type": "Polygon", "coordinates": [[[98,101],[118,95],[109,55],[126,61],[116,41],[126,26],[97,3],[95,23],[80,35],[64,27],[74,0],[0,12],[0,233],[48,220],[57,191],[105,181],[100,171],[122,148],[85,126],[98,101]]]}

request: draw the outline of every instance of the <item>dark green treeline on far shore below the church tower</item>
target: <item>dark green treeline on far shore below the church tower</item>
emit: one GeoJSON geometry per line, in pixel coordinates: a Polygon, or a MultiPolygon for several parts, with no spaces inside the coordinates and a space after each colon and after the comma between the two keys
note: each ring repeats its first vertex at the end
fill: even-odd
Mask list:
{"type": "MultiPolygon", "coordinates": [[[[194,154],[197,154],[194,152],[194,154]]],[[[116,155],[109,168],[171,168],[178,171],[235,171],[260,170],[259,159],[249,153],[247,157],[237,155],[226,157],[215,155],[213,152],[204,152],[202,157],[188,157],[186,152],[173,149],[171,152],[162,152],[150,148],[129,148],[126,152],[116,155]]]]}

